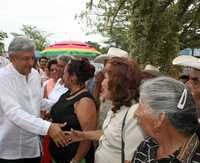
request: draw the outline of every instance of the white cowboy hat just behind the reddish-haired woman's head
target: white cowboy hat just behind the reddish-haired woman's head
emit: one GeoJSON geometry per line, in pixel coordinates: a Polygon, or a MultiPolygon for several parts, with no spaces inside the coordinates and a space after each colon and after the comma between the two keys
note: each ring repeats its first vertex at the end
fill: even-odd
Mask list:
{"type": "Polygon", "coordinates": [[[111,47],[108,50],[107,54],[102,54],[97,56],[94,59],[95,63],[103,63],[105,62],[105,60],[112,58],[112,57],[125,57],[128,58],[128,53],[125,50],[119,49],[119,48],[115,48],[115,47],[111,47]]]}

